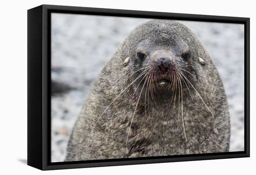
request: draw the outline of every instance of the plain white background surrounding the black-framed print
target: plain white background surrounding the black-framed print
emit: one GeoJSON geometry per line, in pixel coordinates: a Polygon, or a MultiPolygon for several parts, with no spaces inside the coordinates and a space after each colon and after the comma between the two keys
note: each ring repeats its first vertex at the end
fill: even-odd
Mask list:
{"type": "MultiPolygon", "coordinates": [[[[253,174],[256,172],[254,105],[256,12],[253,0],[27,0],[2,1],[0,9],[0,174],[253,174]],[[40,171],[27,159],[27,9],[41,4],[178,12],[251,18],[250,158],[40,171]]],[[[230,60],[232,61],[232,60],[230,60]]]]}

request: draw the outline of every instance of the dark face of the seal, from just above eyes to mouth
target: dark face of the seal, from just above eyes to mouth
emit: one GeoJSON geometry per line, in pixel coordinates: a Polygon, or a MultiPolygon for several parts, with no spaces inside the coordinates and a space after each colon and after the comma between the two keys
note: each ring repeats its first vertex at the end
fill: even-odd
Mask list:
{"type": "Polygon", "coordinates": [[[168,88],[171,91],[176,86],[182,88],[180,86],[185,85],[183,76],[189,72],[195,74],[188,44],[162,33],[155,37],[142,40],[138,45],[137,58],[134,58],[134,64],[139,65],[135,69],[138,71],[136,76],[144,73],[145,80],[153,82],[154,89],[168,88]]]}

